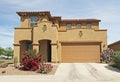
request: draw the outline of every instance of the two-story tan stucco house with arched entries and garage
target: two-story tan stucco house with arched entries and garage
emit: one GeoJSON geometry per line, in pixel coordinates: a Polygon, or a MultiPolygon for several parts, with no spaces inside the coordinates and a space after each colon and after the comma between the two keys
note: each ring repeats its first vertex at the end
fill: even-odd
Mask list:
{"type": "Polygon", "coordinates": [[[14,32],[14,56],[36,49],[47,62],[99,62],[107,48],[107,30],[97,19],[61,19],[50,12],[17,12],[20,27],[14,32]]]}

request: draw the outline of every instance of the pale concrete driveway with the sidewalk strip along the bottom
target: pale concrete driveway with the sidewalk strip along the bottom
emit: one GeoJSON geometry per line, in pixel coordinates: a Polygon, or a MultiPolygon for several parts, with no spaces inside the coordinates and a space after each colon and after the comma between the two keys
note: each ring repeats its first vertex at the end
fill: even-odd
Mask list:
{"type": "Polygon", "coordinates": [[[55,75],[0,76],[0,82],[120,82],[120,71],[100,63],[61,63],[55,75]]]}

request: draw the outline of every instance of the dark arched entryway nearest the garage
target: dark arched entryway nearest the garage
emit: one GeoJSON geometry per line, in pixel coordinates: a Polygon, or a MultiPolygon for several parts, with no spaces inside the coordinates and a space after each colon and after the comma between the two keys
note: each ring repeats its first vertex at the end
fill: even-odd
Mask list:
{"type": "Polygon", "coordinates": [[[42,60],[51,62],[51,40],[40,40],[39,52],[42,55],[42,60]]]}

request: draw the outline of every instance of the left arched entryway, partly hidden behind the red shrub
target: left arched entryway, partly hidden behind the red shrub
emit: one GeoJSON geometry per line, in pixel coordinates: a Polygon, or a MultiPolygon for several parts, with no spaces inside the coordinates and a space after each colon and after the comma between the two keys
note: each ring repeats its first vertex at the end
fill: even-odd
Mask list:
{"type": "Polygon", "coordinates": [[[20,62],[23,59],[23,52],[32,50],[32,41],[30,40],[21,40],[20,42],[20,62]]]}

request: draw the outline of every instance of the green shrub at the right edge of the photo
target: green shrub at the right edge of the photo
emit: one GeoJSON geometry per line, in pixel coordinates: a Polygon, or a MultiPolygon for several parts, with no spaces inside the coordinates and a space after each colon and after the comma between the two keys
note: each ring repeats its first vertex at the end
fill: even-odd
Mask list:
{"type": "Polygon", "coordinates": [[[120,69],[120,51],[114,52],[112,66],[117,67],[117,68],[120,69]]]}

